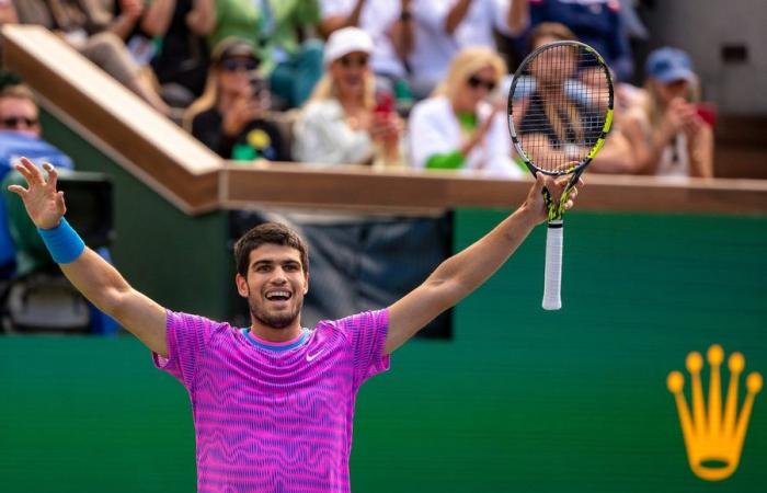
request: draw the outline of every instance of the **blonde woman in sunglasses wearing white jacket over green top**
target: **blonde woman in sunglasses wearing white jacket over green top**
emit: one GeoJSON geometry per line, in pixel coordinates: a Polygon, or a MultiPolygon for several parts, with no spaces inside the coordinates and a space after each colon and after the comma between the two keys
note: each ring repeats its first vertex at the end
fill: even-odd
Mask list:
{"type": "Polygon", "coordinates": [[[416,103],[410,116],[409,147],[415,168],[480,170],[520,176],[512,159],[504,105],[490,96],[506,64],[486,47],[466,48],[453,60],[434,95],[416,103]]]}

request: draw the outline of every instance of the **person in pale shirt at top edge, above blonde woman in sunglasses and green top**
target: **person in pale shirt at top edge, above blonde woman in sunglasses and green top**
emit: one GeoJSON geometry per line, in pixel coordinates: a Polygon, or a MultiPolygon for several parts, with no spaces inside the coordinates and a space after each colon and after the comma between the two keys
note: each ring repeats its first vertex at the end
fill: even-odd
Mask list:
{"type": "Polygon", "coordinates": [[[517,2],[511,0],[413,0],[415,43],[409,56],[416,99],[428,95],[445,78],[456,54],[470,46],[495,49],[493,30],[508,36],[516,25],[517,2]]]}

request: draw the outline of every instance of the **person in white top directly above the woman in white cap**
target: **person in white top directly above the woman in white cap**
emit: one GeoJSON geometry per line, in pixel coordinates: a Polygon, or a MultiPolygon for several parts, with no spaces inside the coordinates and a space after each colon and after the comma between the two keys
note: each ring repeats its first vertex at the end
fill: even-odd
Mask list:
{"type": "Polygon", "coordinates": [[[370,55],[370,69],[377,77],[377,87],[397,94],[400,105],[412,104],[409,67],[404,62],[414,43],[411,3],[411,0],[322,0],[320,32],[327,37],[340,28],[355,26],[369,34],[376,47],[370,55]]]}

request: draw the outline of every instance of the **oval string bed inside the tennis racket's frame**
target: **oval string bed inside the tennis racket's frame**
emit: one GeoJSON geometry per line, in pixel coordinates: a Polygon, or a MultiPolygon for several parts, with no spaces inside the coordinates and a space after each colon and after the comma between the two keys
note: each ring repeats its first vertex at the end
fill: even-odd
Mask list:
{"type": "Polygon", "coordinates": [[[551,45],[517,73],[512,116],[522,150],[540,170],[572,171],[602,137],[610,103],[604,66],[582,46],[551,45]]]}

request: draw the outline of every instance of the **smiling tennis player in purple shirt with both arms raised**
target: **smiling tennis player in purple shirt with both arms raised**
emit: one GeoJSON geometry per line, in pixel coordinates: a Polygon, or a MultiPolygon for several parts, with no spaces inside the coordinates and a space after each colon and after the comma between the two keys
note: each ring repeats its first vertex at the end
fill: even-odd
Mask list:
{"type": "MultiPolygon", "coordinates": [[[[566,177],[539,174],[526,202],[484,238],[446,260],[392,306],[301,328],[309,289],[304,241],[278,223],[247,232],[234,248],[236,283],[252,324],[170,311],[128,285],[64,218],[56,170],[16,164],[21,196],[69,280],[151,349],[154,364],[187,389],[199,492],[348,492],[352,419],[359,386],[389,368],[389,355],[488,279],[546,219],[566,177]]],[[[573,192],[566,203],[573,205],[573,192]]]]}

